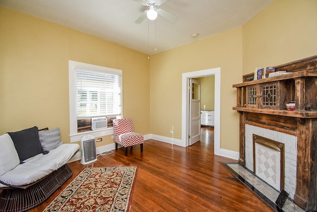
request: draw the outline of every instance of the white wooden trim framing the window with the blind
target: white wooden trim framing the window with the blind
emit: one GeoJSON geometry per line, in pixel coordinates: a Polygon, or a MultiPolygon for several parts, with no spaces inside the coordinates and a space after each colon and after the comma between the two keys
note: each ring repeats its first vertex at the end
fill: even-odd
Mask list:
{"type": "MultiPolygon", "coordinates": [[[[87,132],[77,132],[77,119],[76,119],[76,81],[75,81],[75,69],[86,69],[92,71],[100,71],[112,74],[118,74],[122,76],[122,70],[108,68],[99,65],[93,65],[83,62],[77,62],[73,60],[68,61],[69,64],[69,132],[70,132],[70,143],[80,141],[80,138],[84,135],[91,134],[95,137],[101,137],[106,135],[113,135],[113,127],[109,127],[102,130],[94,130],[94,131],[87,131],[87,132]]],[[[121,78],[122,80],[122,78],[121,78]]],[[[122,82],[121,82],[121,89],[122,89],[122,82]]],[[[122,94],[122,93],[121,93],[122,94]]],[[[122,96],[123,97],[123,96],[122,96]]],[[[122,101],[122,99],[121,99],[122,101]]],[[[121,102],[121,116],[123,117],[123,106],[121,102]]]]}

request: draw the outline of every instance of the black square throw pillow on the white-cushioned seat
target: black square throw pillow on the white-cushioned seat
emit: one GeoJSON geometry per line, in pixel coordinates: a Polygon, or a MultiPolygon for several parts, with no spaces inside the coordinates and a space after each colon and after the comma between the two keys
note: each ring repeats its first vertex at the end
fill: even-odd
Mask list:
{"type": "Polygon", "coordinates": [[[37,127],[8,133],[13,141],[20,162],[43,153],[37,127]]]}

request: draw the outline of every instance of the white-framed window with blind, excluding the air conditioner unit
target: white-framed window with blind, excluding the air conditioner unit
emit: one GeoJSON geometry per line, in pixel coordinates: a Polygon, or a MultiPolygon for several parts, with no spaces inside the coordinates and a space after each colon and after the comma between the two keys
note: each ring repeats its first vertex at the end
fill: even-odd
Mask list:
{"type": "Polygon", "coordinates": [[[111,120],[122,117],[122,71],[69,60],[69,111],[71,142],[113,134],[111,120]],[[92,118],[105,117],[108,128],[91,131],[92,118]]]}

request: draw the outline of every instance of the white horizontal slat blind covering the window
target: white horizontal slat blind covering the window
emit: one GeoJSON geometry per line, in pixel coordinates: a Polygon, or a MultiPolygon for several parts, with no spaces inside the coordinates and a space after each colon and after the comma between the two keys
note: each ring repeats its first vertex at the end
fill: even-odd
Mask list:
{"type": "Polygon", "coordinates": [[[121,76],[75,68],[76,118],[121,113],[121,76]]]}

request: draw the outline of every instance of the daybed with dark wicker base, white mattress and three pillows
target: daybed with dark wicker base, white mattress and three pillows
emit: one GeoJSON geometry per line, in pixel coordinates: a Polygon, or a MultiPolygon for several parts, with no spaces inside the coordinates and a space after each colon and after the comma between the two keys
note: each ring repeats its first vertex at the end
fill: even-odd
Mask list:
{"type": "Polygon", "coordinates": [[[66,162],[78,150],[60,141],[59,128],[1,135],[0,212],[27,211],[47,200],[72,175],[66,162]]]}

